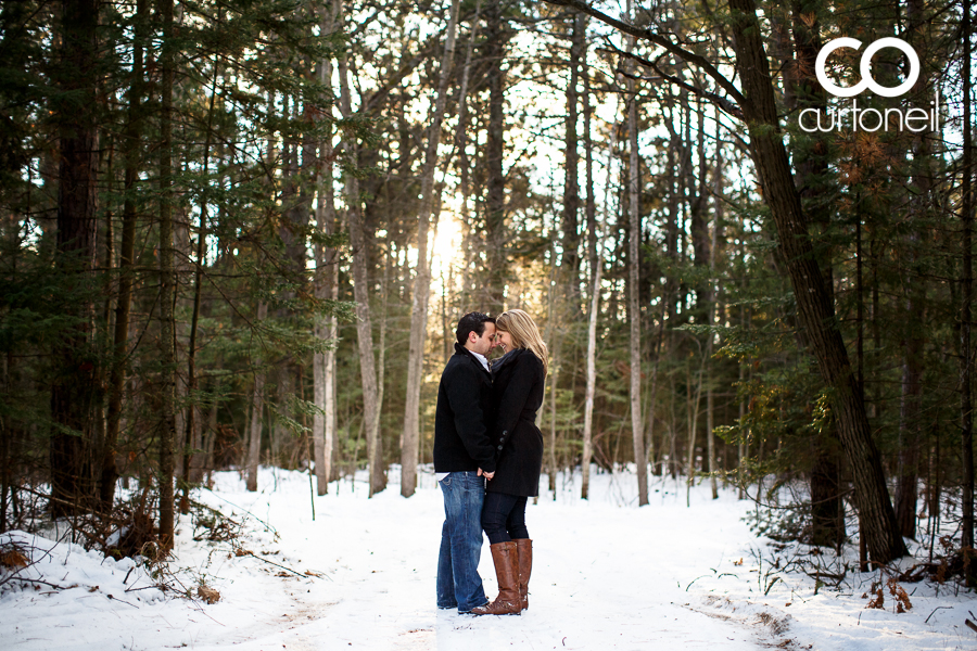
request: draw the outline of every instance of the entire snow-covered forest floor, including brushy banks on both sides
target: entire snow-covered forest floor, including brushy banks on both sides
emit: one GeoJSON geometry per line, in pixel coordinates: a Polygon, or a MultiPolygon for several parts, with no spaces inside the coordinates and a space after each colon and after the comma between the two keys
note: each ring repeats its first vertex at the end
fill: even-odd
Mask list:
{"type": "MultiPolygon", "coordinates": [[[[364,477],[357,477],[361,480],[364,477]]],[[[0,536],[29,552],[21,576],[43,583],[0,586],[0,647],[17,650],[115,649],[722,649],[910,651],[972,649],[974,595],[952,585],[902,586],[912,608],[883,609],[862,595],[879,573],[849,571],[840,589],[819,586],[796,566],[796,546],[771,546],[743,521],[752,508],[733,492],[709,499],[672,481],[652,484],[636,507],[630,474],[594,474],[591,499],[580,477],[560,477],[526,512],[534,539],[530,610],[472,617],[434,605],[443,510],[431,474],[417,494],[390,488],[367,499],[363,481],[330,485],[315,498],[306,474],[263,469],[259,493],[237,473],[216,477],[198,499],[243,524],[236,541],[207,541],[207,529],[178,524],[169,585],[219,601],[163,593],[128,559],[115,562],[67,542],[23,533],[0,536]],[[194,532],[200,540],[194,540],[194,532]]],[[[543,480],[545,487],[546,478],[543,480]]],[[[804,557],[812,559],[812,557],[804,557]]],[[[824,563],[842,563],[827,551],[824,563]]],[[[813,558],[820,562],[820,559],[813,558]]],[[[909,566],[906,559],[904,566],[909,566]]],[[[480,565],[496,592],[487,544],[480,565]]],[[[0,572],[0,582],[9,572],[0,572]]]]}

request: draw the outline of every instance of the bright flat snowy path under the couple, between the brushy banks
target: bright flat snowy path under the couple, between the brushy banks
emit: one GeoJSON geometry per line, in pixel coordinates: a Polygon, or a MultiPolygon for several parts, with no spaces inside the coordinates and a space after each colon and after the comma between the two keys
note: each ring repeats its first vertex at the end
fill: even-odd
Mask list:
{"type": "MultiPolygon", "coordinates": [[[[732,651],[758,649],[758,634],[766,633],[695,612],[702,608],[700,596],[685,591],[703,567],[728,563],[727,556],[738,551],[727,549],[727,539],[749,536],[739,521],[745,507],[735,500],[708,503],[696,495],[702,503],[689,519],[684,496],[656,496],[658,502],[642,510],[608,503],[609,495],[592,503],[541,499],[526,514],[535,557],[530,610],[519,617],[470,617],[434,608],[443,520],[435,487],[426,486],[409,500],[397,495],[396,484],[371,500],[343,499],[348,483],[339,489],[338,498],[317,500],[314,523],[307,496],[304,503],[289,503],[303,497],[297,490],[226,494],[239,506],[246,501],[278,529],[283,558],[329,577],[312,583],[276,577],[265,589],[287,590],[290,597],[277,595],[276,608],[257,607],[253,595],[224,588],[227,602],[210,611],[216,620],[221,609],[257,607],[255,626],[233,635],[241,649],[732,651]]],[[[494,597],[487,546],[480,573],[494,597]]]]}

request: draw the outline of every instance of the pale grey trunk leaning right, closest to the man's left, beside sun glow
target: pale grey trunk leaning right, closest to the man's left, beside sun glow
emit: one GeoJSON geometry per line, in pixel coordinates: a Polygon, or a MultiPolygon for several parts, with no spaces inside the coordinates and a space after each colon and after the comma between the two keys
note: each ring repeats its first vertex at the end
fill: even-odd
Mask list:
{"type": "Polygon", "coordinates": [[[418,441],[420,437],[420,393],[424,367],[424,340],[428,333],[428,298],[431,294],[431,267],[428,260],[428,231],[434,205],[434,173],[437,169],[437,146],[441,144],[441,123],[447,104],[448,81],[455,62],[455,31],[458,25],[459,0],[452,0],[444,55],[437,81],[434,111],[428,127],[428,146],[421,175],[421,204],[417,217],[417,277],[414,280],[414,302],[410,308],[410,334],[407,348],[407,398],[404,408],[404,437],[401,446],[401,495],[410,497],[417,488],[418,441]]]}

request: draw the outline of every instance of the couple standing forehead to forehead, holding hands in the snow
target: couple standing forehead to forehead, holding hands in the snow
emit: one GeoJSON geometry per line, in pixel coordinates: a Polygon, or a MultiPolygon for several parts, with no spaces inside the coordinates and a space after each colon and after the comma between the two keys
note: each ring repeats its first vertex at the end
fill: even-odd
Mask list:
{"type": "Polygon", "coordinates": [[[437,608],[474,615],[529,608],[533,541],[525,503],[540,493],[546,344],[521,309],[496,318],[469,312],[458,321],[455,354],[437,387],[434,472],[444,495],[437,557],[437,608]],[[505,355],[488,366],[496,347],[505,355]],[[482,529],[498,579],[492,603],[482,589],[482,529]]]}

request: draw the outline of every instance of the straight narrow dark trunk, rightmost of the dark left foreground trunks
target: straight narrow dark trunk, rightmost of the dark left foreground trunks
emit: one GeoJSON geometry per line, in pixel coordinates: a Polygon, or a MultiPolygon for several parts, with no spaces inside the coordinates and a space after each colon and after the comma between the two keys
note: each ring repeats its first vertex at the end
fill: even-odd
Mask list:
{"type": "Polygon", "coordinates": [[[173,86],[176,72],[176,43],[173,27],[173,0],[160,1],[163,17],[163,50],[160,116],[160,544],[173,548],[174,535],[174,445],[176,443],[176,333],[174,304],[176,273],[173,245],[173,86]]]}

